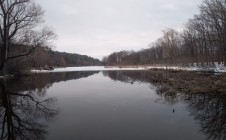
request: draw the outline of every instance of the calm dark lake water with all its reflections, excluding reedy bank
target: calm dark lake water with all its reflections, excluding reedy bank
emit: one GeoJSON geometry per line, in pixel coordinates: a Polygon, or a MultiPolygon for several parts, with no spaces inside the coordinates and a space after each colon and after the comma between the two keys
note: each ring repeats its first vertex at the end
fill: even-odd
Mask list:
{"type": "Polygon", "coordinates": [[[154,79],[165,76],[68,72],[1,83],[1,139],[226,139],[225,94],[160,92],[165,83],[154,79]]]}

